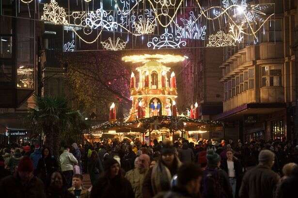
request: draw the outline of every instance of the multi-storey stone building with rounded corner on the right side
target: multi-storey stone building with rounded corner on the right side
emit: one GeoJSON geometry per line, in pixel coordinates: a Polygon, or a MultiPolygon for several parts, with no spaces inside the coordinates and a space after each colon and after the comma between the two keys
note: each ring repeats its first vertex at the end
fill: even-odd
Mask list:
{"type": "Polygon", "coordinates": [[[244,36],[243,44],[224,48],[224,61],[219,65],[223,112],[213,119],[228,123],[225,138],[295,138],[297,66],[293,46],[297,42],[298,2],[271,2],[275,3],[275,17],[264,27],[257,45],[244,36]]]}

